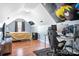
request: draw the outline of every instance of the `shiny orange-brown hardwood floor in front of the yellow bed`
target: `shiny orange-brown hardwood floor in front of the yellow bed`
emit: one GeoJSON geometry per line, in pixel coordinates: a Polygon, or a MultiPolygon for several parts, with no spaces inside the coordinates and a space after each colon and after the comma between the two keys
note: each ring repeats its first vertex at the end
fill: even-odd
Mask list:
{"type": "Polygon", "coordinates": [[[39,40],[13,42],[12,54],[10,56],[35,56],[33,51],[43,48],[45,48],[45,44],[39,40]]]}

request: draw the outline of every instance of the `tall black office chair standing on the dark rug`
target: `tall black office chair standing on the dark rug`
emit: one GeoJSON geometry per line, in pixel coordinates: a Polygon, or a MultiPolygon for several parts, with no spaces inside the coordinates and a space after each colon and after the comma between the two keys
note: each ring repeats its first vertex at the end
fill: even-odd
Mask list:
{"type": "Polygon", "coordinates": [[[57,55],[57,53],[63,49],[66,43],[66,41],[58,42],[57,36],[59,35],[57,34],[56,30],[57,30],[56,25],[53,25],[53,28],[52,27],[48,28],[48,39],[51,48],[51,51],[47,53],[48,55],[49,53],[53,53],[53,55],[57,55]]]}

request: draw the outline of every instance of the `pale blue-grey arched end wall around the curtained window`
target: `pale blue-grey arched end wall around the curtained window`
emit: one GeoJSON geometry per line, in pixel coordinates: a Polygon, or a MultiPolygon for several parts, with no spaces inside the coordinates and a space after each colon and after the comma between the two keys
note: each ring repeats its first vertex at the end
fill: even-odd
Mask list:
{"type": "MultiPolygon", "coordinates": [[[[16,19],[15,21],[24,21],[24,19],[16,19]]],[[[15,32],[15,21],[7,25],[8,32],[15,32]]],[[[27,22],[25,22],[25,32],[31,33],[31,25],[27,22]]]]}

